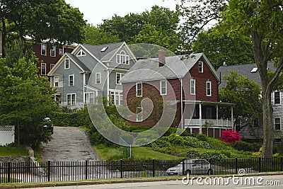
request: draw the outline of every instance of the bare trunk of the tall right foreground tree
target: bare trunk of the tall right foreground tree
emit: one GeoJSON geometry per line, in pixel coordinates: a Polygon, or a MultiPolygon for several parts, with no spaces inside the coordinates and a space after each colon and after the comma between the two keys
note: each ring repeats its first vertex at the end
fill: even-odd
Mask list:
{"type": "Polygon", "coordinates": [[[273,122],[271,88],[262,88],[263,149],[262,158],[271,158],[273,149],[273,122]]]}

